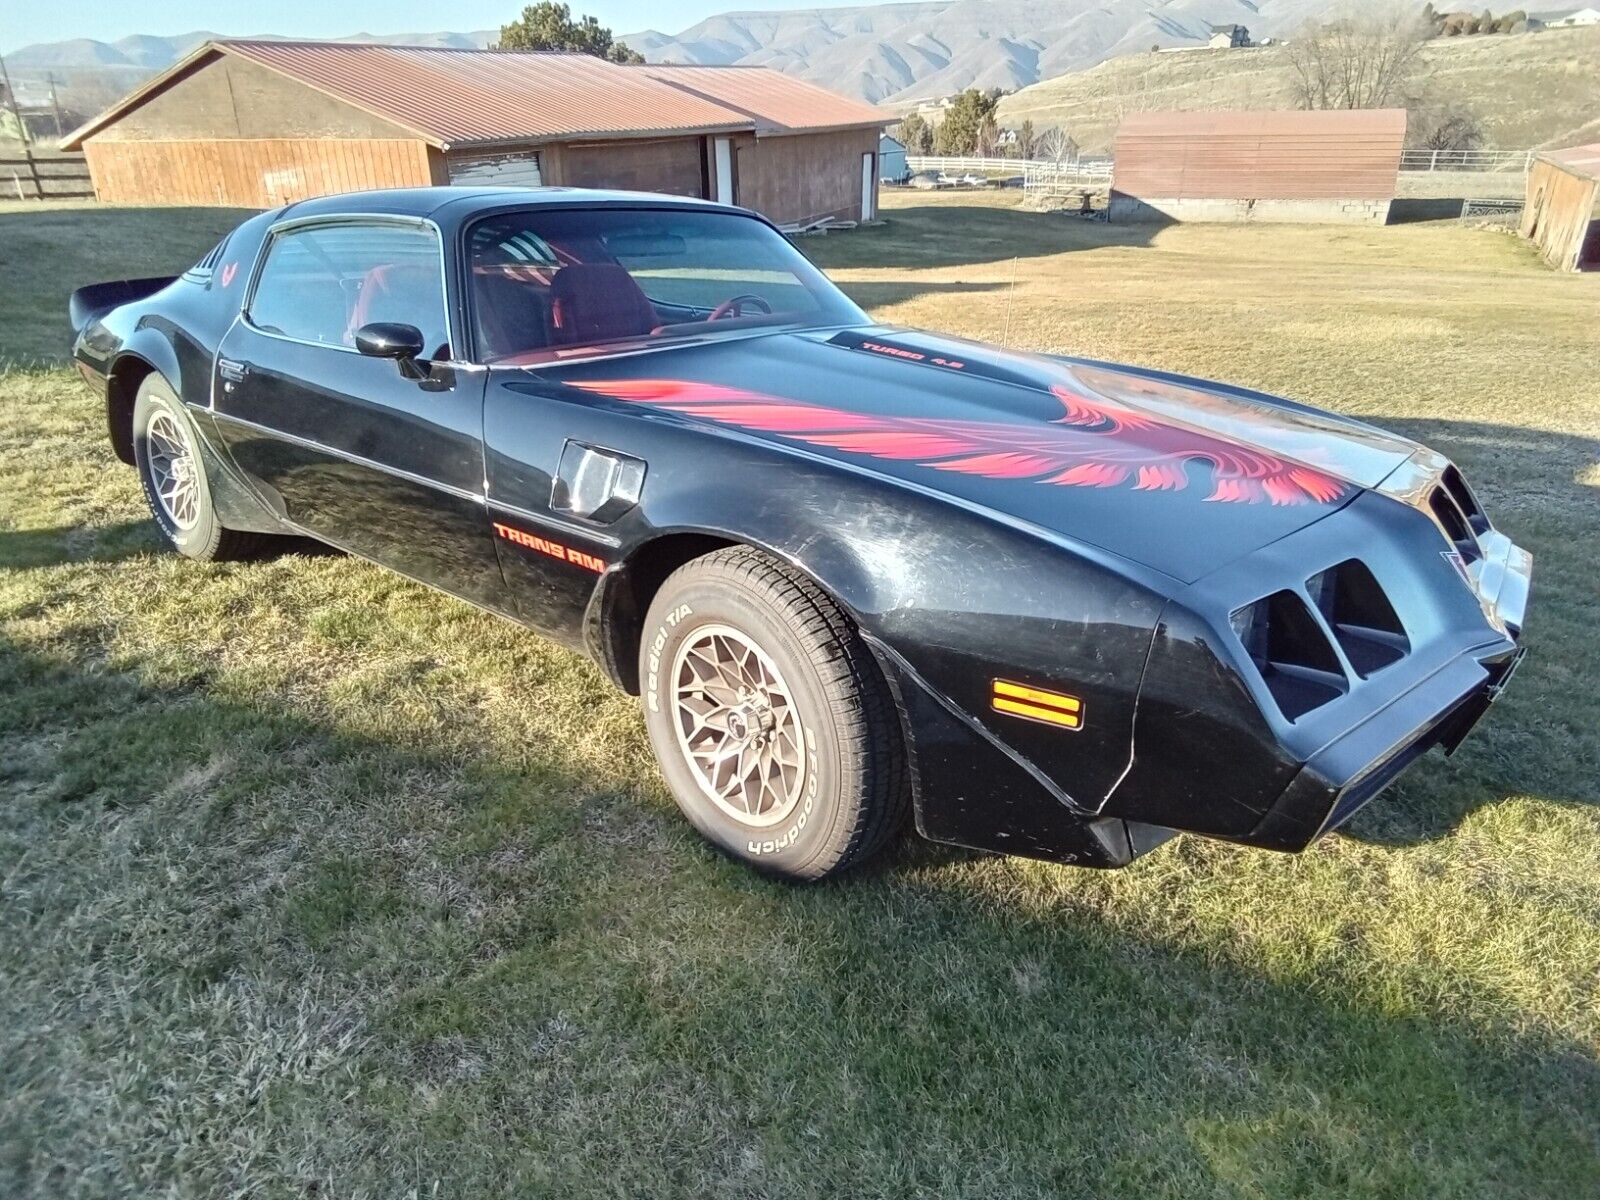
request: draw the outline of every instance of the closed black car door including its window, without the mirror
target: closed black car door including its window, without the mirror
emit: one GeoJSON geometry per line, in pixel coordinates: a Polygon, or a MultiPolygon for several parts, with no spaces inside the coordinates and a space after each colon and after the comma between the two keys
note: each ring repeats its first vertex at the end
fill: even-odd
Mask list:
{"type": "Polygon", "coordinates": [[[483,373],[453,366],[448,342],[430,227],[344,219],[275,230],[246,315],[218,352],[216,426],[285,520],[504,610],[483,507],[483,373]],[[374,320],[416,325],[437,362],[408,374],[354,350],[355,328],[374,320]]]}

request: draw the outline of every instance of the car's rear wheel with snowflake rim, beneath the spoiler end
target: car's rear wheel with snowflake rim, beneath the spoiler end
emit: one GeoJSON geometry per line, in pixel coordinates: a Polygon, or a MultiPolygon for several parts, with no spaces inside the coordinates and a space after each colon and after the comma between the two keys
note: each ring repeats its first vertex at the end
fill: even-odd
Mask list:
{"type": "Polygon", "coordinates": [[[218,520],[200,437],[158,374],[146,376],[133,402],[133,461],[150,515],[179,554],[202,562],[250,558],[269,542],[264,534],[227,530],[218,520]]]}

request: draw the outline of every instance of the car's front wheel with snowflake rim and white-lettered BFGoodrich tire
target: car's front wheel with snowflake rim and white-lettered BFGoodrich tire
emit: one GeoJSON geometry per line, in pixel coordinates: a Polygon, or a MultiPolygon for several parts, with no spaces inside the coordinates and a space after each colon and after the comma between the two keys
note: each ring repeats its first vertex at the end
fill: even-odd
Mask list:
{"type": "Polygon", "coordinates": [[[678,808],[725,853],[816,880],[901,827],[888,685],[838,605],[784,563],[731,547],[674,571],[645,622],[640,680],[678,808]]]}

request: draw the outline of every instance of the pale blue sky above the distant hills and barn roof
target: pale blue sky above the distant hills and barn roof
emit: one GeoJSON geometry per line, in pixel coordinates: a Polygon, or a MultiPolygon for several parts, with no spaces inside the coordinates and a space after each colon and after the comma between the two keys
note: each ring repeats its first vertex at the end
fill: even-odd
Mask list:
{"type": "MultiPolygon", "coordinates": [[[[568,0],[574,16],[590,14],[616,34],[659,29],[677,34],[715,13],[752,8],[811,8],[850,0],[568,0]]],[[[0,53],[34,42],[91,37],[115,42],[128,34],[413,34],[496,29],[525,0],[0,0],[0,53]]]]}

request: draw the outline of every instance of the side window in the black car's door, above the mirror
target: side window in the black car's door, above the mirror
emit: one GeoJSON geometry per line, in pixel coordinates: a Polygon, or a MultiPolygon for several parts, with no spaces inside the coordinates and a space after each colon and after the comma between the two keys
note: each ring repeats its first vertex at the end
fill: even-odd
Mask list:
{"type": "Polygon", "coordinates": [[[427,357],[448,358],[438,238],[432,229],[379,222],[277,234],[250,322],[264,333],[346,347],[363,325],[400,322],[422,331],[427,357]]]}

